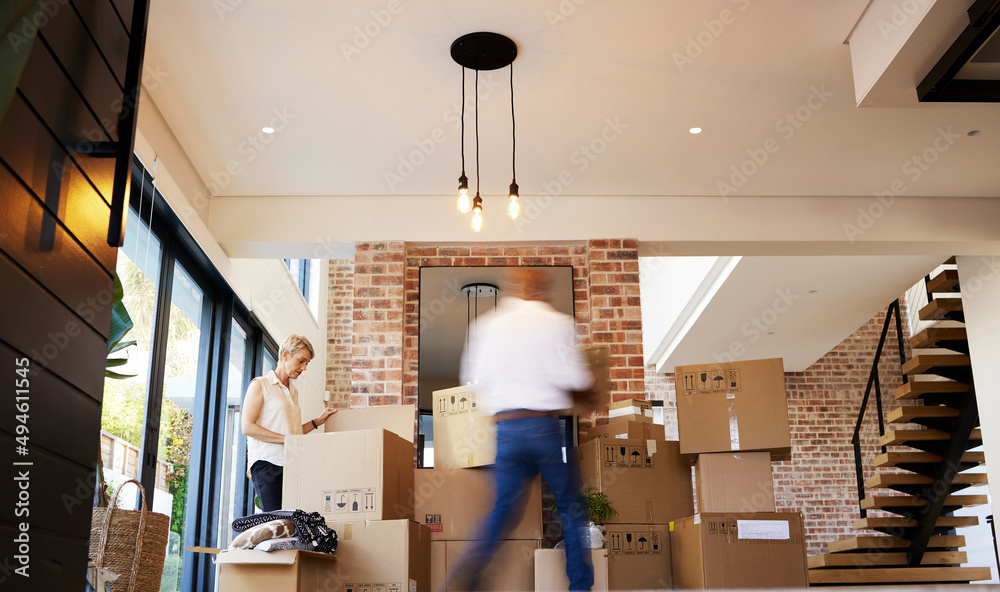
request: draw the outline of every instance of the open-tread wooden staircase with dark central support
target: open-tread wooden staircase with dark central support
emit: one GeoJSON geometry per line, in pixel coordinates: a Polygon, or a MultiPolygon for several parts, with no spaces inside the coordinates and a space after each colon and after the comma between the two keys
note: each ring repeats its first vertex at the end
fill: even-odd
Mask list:
{"type": "MultiPolygon", "coordinates": [[[[927,286],[928,295],[951,297],[931,299],[920,319],[964,323],[957,271],[927,278],[927,286]]],[[[985,495],[959,493],[986,483],[985,473],[966,472],[981,467],[985,457],[969,450],[982,444],[982,436],[965,328],[931,326],[914,335],[910,347],[920,353],[902,365],[908,380],[893,398],[903,405],[885,416],[882,454],[874,459],[878,473],[865,480],[867,497],[854,525],[874,532],[830,543],[829,553],[809,557],[812,586],[958,584],[991,577],[988,567],[963,565],[965,537],[955,534],[979,519],[951,515],[987,503],[985,495]]]]}

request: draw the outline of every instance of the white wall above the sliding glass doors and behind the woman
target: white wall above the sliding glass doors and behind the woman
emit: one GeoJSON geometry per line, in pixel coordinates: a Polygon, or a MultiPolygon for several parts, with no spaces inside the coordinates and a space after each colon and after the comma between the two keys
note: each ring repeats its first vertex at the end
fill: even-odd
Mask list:
{"type": "Polygon", "coordinates": [[[296,386],[302,417],[319,415],[324,407],[326,382],[326,261],[312,270],[320,279],[316,318],[278,258],[298,258],[294,254],[275,253],[273,259],[230,259],[208,229],[208,189],[145,90],[139,102],[135,153],[151,173],[156,162],[157,189],[258,323],[279,343],[289,333],[304,335],[312,342],[316,358],[296,386]]]}

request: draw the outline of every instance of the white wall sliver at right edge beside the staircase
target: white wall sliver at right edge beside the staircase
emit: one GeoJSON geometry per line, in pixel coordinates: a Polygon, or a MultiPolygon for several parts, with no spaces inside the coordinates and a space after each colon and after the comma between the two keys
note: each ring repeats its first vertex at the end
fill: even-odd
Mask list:
{"type": "Polygon", "coordinates": [[[993,515],[1000,517],[1000,257],[957,257],[993,515]]]}

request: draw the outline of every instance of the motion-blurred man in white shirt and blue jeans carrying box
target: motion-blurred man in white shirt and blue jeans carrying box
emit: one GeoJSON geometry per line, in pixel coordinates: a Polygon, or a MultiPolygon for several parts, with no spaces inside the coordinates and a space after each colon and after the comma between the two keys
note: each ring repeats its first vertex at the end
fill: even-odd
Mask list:
{"type": "Polygon", "coordinates": [[[497,503],[479,528],[476,541],[448,576],[453,590],[475,590],[489,564],[508,518],[524,510],[535,475],[556,496],[566,539],[566,575],[570,590],[589,590],[594,582],[582,528],[586,504],[575,467],[563,461],[559,411],[569,409],[568,391],[584,390],[593,382],[582,352],[576,347],[576,325],[568,315],[545,302],[547,277],[537,268],[514,268],[512,297],[505,298],[496,317],[484,323],[466,352],[468,376],[492,411],[497,426],[497,503]]]}

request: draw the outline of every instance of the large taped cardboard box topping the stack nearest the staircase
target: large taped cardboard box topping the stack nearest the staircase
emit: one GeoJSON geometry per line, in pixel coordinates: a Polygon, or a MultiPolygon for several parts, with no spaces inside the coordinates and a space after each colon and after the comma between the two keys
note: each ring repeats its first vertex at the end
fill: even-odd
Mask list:
{"type": "Polygon", "coordinates": [[[677,366],[681,452],[767,450],[788,460],[791,438],[781,358],[677,366]]]}

